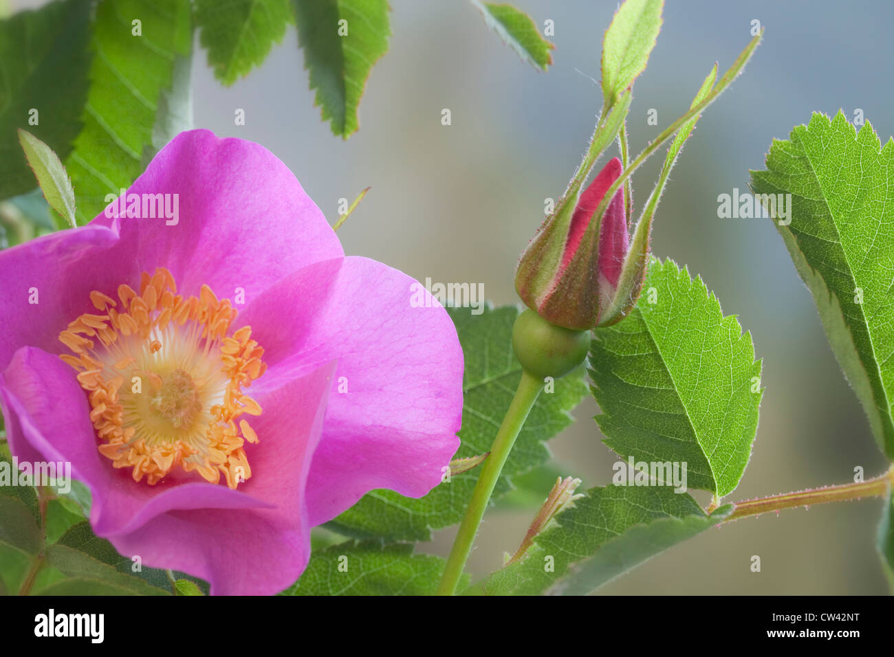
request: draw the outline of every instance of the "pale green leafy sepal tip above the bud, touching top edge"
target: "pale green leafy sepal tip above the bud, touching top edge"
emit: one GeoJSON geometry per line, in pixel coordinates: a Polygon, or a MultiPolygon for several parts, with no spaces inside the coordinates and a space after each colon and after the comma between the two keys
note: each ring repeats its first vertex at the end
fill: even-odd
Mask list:
{"type": "Polygon", "coordinates": [[[663,0],[626,0],[603,39],[603,97],[613,105],[645,70],[662,27],[663,0]]]}

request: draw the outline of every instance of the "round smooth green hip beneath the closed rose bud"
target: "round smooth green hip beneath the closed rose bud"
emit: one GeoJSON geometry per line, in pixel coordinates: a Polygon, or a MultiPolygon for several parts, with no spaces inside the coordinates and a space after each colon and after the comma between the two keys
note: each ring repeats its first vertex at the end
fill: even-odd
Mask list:
{"type": "Polygon", "coordinates": [[[526,308],[512,326],[512,350],[525,370],[537,378],[558,379],[584,362],[590,332],[550,324],[526,308]]]}

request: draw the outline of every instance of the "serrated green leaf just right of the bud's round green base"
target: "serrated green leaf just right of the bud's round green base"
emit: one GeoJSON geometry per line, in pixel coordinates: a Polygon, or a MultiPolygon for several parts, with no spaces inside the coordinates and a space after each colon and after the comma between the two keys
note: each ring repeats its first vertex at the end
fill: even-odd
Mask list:
{"type": "Polygon", "coordinates": [[[596,422],[621,457],[685,462],[689,488],[722,497],[745,471],[757,430],[763,391],[751,335],[670,259],[652,260],[643,290],[627,318],[595,331],[596,422]]]}

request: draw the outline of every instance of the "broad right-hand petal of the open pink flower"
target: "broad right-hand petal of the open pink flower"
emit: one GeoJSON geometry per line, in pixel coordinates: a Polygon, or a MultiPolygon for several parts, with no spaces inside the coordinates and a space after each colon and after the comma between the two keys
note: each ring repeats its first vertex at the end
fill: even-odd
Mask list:
{"type": "Polygon", "coordinates": [[[292,274],[237,318],[266,349],[271,367],[259,387],[338,359],[308,480],[312,525],[376,488],[424,495],[460,444],[460,342],[436,301],[411,305],[415,286],[391,267],[347,257],[292,274]]]}

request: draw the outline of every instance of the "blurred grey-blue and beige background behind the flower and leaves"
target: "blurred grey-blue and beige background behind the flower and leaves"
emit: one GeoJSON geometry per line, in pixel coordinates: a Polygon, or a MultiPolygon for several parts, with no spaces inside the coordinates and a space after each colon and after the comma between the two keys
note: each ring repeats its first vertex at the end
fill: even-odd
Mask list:
{"type": "MultiPolygon", "coordinates": [[[[337,218],[372,186],[339,231],[350,255],[373,257],[418,280],[483,282],[495,304],[518,301],[513,271],[580,161],[602,97],[599,58],[614,0],[512,0],[540,26],[555,25],[549,72],[537,72],[489,33],[468,2],[390,0],[391,46],[375,64],[347,141],[320,121],[292,27],[266,63],[223,88],[196,51],[195,124],[251,139],[291,167],[311,198],[337,218]],[[246,124],[233,114],[245,110],[246,124]],[[451,125],[441,124],[443,108],[451,125]]],[[[13,2],[13,8],[43,4],[13,2]]],[[[637,80],[628,130],[639,152],[683,114],[716,61],[724,72],[766,28],[745,73],[698,123],[656,215],[653,249],[699,274],[754,336],[763,395],[751,463],[726,501],[763,497],[866,476],[886,467],[856,397],[831,354],[813,299],[768,220],[719,219],[717,196],[746,191],[772,139],[787,139],[812,112],[857,108],[882,140],[894,132],[894,90],[885,72],[894,4],[789,0],[668,0],[648,69],[637,80]],[[658,125],[646,124],[654,108],[658,125]]],[[[662,149],[634,176],[638,210],[662,149]]],[[[234,208],[234,211],[236,208],[234,208]]],[[[564,474],[584,486],[611,481],[595,402],[550,442],[564,474]]],[[[544,490],[544,496],[547,493],[544,490]]],[[[696,497],[698,495],[696,494],[696,497]]],[[[706,503],[704,495],[698,499],[706,503]]],[[[875,552],[881,501],[832,504],[746,518],[664,552],[602,594],[884,594],[875,552]],[[759,555],[762,570],[750,570],[759,555]]],[[[533,511],[485,517],[469,567],[485,574],[514,552],[533,511]]],[[[424,550],[443,555],[454,530],[424,550]]]]}

